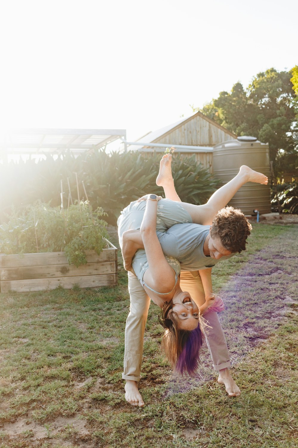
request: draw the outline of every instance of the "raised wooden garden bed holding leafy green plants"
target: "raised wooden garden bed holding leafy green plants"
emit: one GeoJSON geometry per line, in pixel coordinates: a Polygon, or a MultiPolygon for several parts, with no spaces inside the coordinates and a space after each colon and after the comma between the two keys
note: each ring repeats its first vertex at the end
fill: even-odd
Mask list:
{"type": "Polygon", "coordinates": [[[86,250],[87,264],[69,265],[64,252],[43,252],[24,255],[0,255],[1,292],[42,291],[62,286],[71,289],[115,286],[117,284],[117,251],[109,248],[98,255],[86,250]]]}

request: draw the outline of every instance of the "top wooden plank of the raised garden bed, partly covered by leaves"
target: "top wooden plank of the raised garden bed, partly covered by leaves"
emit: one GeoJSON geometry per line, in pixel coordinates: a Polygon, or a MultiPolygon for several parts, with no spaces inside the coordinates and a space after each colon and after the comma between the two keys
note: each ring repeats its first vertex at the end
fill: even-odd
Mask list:
{"type": "MultiPolygon", "coordinates": [[[[88,263],[113,261],[117,259],[117,248],[104,249],[100,255],[95,250],[86,250],[88,263]]],[[[67,264],[64,252],[42,252],[38,254],[0,255],[0,268],[47,266],[50,264],[67,264]]]]}

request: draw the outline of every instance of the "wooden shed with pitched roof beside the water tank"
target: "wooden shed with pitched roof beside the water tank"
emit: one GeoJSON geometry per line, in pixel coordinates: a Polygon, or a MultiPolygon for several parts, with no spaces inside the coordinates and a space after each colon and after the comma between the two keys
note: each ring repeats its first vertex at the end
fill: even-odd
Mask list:
{"type": "Polygon", "coordinates": [[[235,138],[237,138],[235,134],[218,125],[201,112],[197,112],[172,125],[149,132],[135,142],[142,143],[142,145],[144,143],[143,146],[132,144],[127,149],[141,152],[164,152],[165,148],[159,147],[158,143],[168,146],[188,146],[187,148],[177,148],[176,151],[188,156],[195,154],[197,162],[201,162],[203,167],[213,174],[213,146],[235,138]],[[150,143],[155,146],[150,146],[150,143]],[[193,148],[189,146],[193,146],[193,148]]]}

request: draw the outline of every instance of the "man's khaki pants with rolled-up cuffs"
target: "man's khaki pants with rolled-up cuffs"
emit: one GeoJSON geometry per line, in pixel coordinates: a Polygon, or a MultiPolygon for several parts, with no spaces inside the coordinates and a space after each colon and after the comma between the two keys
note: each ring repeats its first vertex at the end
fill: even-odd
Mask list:
{"type": "MultiPolygon", "coordinates": [[[[205,302],[205,293],[198,271],[181,272],[180,287],[187,291],[197,306],[205,302]]],[[[130,312],[125,327],[125,353],[123,379],[139,381],[141,379],[141,366],[143,357],[143,340],[150,298],[140,284],[138,278],[128,272],[128,290],[130,293],[130,312]]],[[[215,312],[204,314],[207,327],[206,342],[211,354],[215,370],[231,366],[229,351],[222,326],[215,312]]]]}

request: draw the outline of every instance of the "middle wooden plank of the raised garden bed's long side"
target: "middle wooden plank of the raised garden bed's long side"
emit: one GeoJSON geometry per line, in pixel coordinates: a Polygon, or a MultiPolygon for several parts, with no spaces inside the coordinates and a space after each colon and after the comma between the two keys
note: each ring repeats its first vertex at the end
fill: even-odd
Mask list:
{"type": "Polygon", "coordinates": [[[8,267],[0,269],[1,281],[27,280],[54,277],[94,276],[99,274],[115,274],[115,261],[87,263],[79,267],[73,264],[50,264],[47,266],[8,267]]]}

